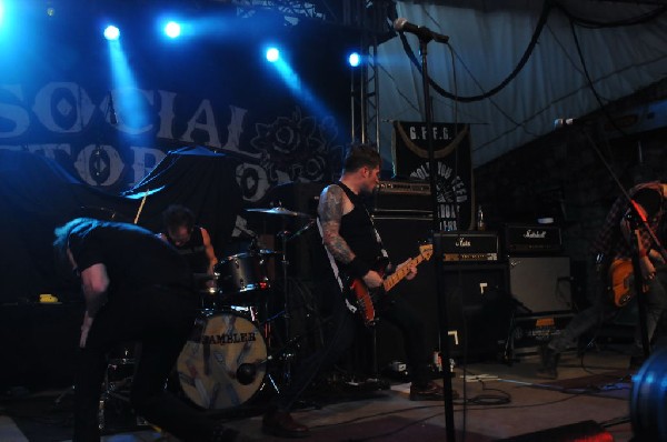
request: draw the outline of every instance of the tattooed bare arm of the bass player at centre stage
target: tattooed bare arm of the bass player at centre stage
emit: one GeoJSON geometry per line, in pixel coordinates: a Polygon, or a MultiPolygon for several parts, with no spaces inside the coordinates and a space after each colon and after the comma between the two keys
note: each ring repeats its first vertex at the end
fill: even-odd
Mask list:
{"type": "Polygon", "coordinates": [[[362,278],[369,288],[379,287],[382,283],[380,274],[357,258],[340,235],[340,222],[345,214],[346,202],[350,203],[339,185],[329,185],[322,191],[317,208],[317,213],[322,225],[322,241],[336,260],[350,267],[355,277],[362,278]]]}

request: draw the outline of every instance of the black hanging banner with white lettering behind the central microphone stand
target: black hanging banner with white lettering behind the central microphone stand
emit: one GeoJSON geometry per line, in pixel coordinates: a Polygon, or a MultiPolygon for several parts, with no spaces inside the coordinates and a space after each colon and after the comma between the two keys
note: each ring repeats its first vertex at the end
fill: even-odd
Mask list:
{"type": "MultiPolygon", "coordinates": [[[[470,230],[475,219],[470,125],[434,123],[432,131],[440,230],[470,230]]],[[[394,121],[391,149],[396,179],[430,181],[425,122],[394,121]]]]}

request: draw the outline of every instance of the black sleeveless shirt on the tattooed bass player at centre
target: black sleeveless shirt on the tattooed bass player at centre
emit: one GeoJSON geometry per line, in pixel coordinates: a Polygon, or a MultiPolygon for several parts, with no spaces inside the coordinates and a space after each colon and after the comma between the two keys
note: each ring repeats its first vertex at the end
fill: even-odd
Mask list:
{"type": "MultiPolygon", "coordinates": [[[[378,260],[387,259],[387,252],[382,248],[380,235],[366,209],[366,203],[361,197],[340,181],[336,185],[342,189],[355,205],[349,213],[342,215],[339,233],[359,259],[375,268],[378,260]]],[[[339,269],[347,270],[347,265],[340,262],[337,264],[339,269]]]]}

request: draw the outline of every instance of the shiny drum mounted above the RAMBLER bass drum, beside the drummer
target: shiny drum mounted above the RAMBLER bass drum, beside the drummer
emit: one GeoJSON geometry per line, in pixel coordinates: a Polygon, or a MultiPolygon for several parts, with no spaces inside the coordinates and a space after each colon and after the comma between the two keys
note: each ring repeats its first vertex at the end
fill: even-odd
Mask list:
{"type": "Polygon", "coordinates": [[[222,294],[245,293],[270,288],[267,261],[262,253],[228,257],[213,269],[222,294]]]}

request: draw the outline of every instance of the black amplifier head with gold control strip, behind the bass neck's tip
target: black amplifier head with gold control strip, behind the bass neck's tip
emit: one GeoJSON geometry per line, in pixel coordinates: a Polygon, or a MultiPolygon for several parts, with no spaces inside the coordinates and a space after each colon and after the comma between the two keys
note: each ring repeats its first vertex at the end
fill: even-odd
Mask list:
{"type": "Polygon", "coordinates": [[[444,261],[498,261],[496,232],[450,231],[434,235],[436,255],[444,261]]]}

